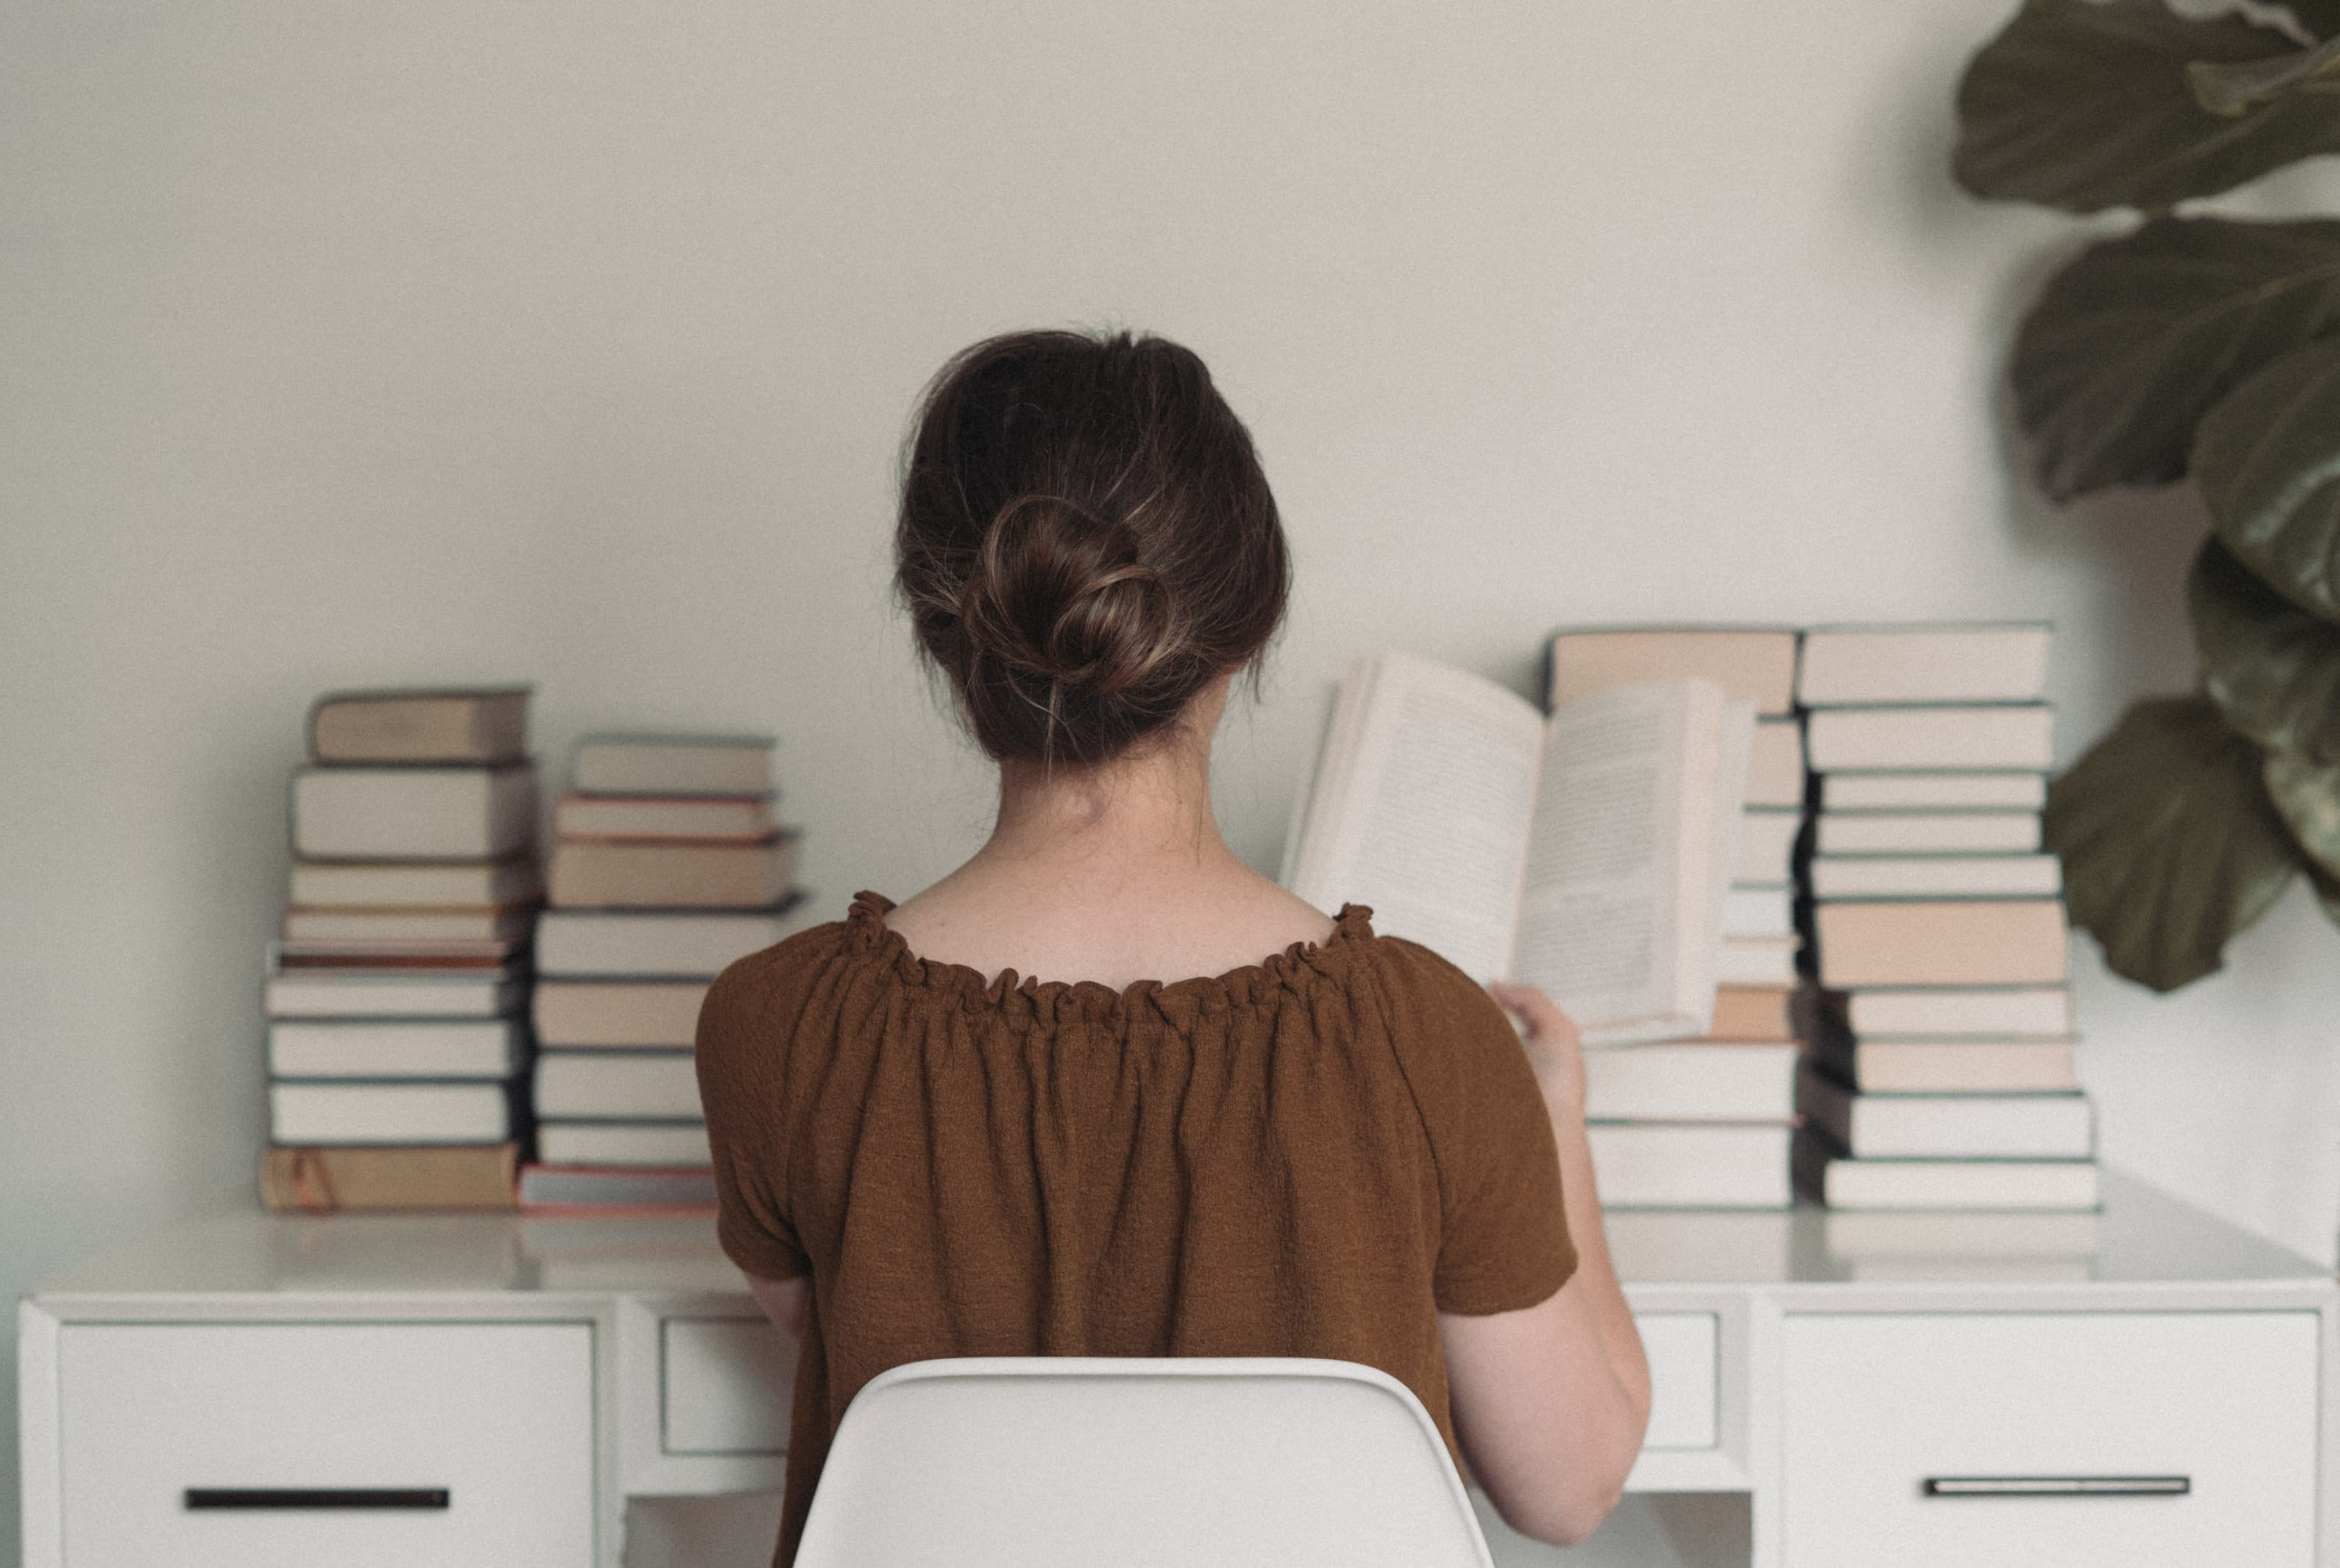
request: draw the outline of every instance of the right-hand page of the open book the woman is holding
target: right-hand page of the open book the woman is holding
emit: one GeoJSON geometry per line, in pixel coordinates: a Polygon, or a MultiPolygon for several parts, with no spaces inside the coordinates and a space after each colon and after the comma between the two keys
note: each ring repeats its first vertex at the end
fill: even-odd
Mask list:
{"type": "Polygon", "coordinates": [[[1572,702],[1547,725],[1514,974],[1589,1044],[1706,1027],[1720,721],[1713,681],[1647,681],[1572,702]],[[1704,974],[1689,962],[1701,950],[1704,974]]]}

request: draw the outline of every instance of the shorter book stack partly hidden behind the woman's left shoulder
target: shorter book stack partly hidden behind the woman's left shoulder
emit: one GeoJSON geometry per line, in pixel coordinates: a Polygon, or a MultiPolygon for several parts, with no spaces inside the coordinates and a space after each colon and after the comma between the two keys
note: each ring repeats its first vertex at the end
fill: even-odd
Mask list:
{"type": "Polygon", "coordinates": [[[536,1212],[714,1205],[693,1037],[707,985],[786,936],[798,835],[772,740],[587,735],[555,810],[538,934],[536,1212]]]}

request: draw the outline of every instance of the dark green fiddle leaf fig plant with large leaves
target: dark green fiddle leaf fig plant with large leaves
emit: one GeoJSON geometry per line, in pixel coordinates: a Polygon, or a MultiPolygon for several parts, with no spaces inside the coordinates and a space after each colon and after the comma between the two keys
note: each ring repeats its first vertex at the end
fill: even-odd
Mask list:
{"type": "Polygon", "coordinates": [[[2328,152],[2340,0],[2024,0],[1959,84],[1966,190],[2136,213],[2017,332],[2033,477],[2059,503],[2193,482],[2209,513],[2202,690],[2134,704],[2047,789],[2073,924],[2153,990],[2298,875],[2340,922],[2340,220],[2179,211],[2328,152]]]}

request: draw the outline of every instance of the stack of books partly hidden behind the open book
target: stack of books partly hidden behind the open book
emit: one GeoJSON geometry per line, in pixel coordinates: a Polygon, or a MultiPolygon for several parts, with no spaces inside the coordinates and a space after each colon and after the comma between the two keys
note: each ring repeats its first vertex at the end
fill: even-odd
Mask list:
{"type": "Polygon", "coordinates": [[[1788,1002],[1802,948],[1792,861],[1804,826],[1795,660],[1797,634],[1778,627],[1601,627],[1547,644],[1551,709],[1617,686],[1694,676],[1757,714],[1706,1032],[1584,1053],[1603,1203],[1790,1203],[1797,1044],[1788,1002]]]}

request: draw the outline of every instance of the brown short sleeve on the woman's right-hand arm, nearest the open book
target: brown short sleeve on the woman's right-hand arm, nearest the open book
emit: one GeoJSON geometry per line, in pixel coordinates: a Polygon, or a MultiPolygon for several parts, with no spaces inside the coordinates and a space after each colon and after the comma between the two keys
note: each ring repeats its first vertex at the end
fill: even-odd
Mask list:
{"type": "Polygon", "coordinates": [[[1535,1306],[1577,1268],[1535,1070],[1477,981],[1416,943],[1381,945],[1392,1048],[1439,1172],[1437,1308],[1477,1318],[1535,1306]]]}

